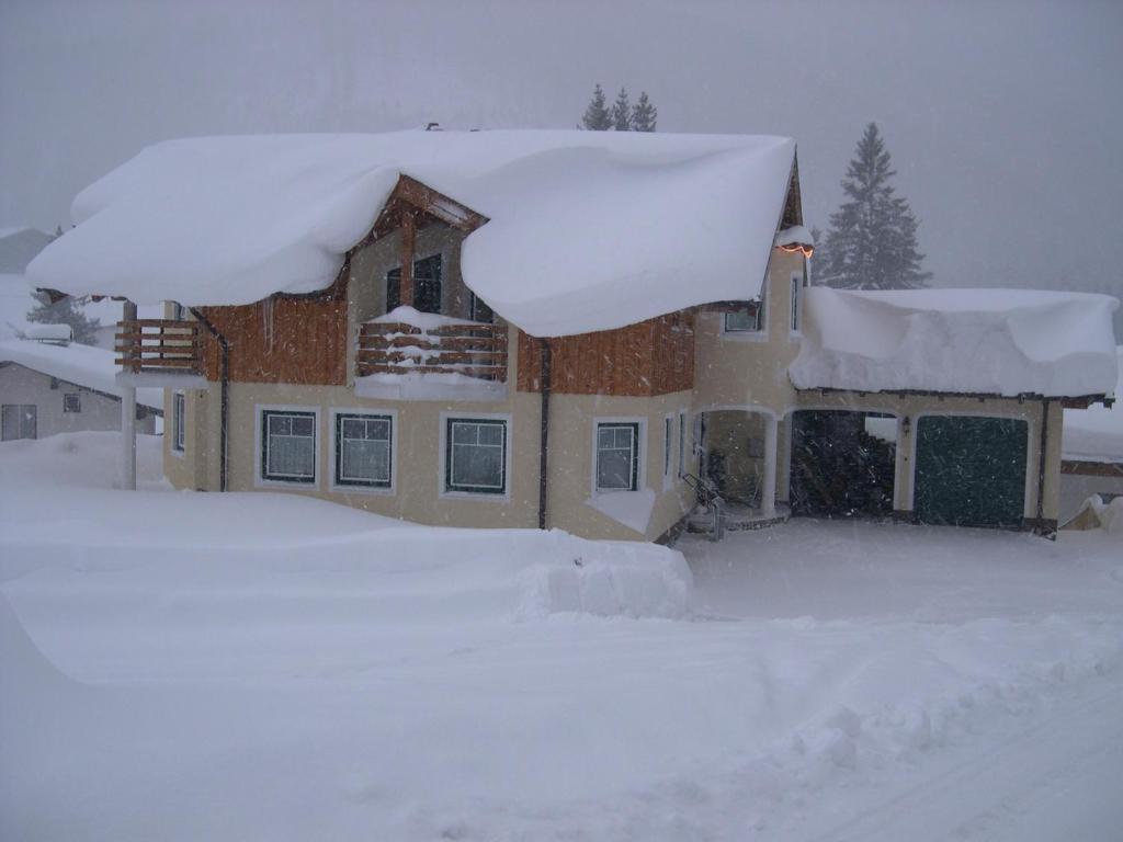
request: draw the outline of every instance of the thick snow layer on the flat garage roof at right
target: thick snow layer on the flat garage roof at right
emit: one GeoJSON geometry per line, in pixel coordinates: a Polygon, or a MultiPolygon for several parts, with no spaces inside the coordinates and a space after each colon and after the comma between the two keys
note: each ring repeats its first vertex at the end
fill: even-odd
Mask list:
{"type": "Polygon", "coordinates": [[[1117,305],[1087,293],[814,287],[788,373],[796,388],[1111,394],[1117,305]]]}

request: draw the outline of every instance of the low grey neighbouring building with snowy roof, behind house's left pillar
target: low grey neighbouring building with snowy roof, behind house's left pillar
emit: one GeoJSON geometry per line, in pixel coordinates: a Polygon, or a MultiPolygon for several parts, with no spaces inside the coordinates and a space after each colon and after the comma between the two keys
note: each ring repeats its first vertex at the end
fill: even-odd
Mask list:
{"type": "MultiPolygon", "coordinates": [[[[64,324],[39,324],[36,338],[0,341],[0,437],[44,439],[58,432],[121,429],[113,355],[73,345],[64,324]]],[[[138,390],[137,429],[156,432],[163,390],[138,390]]]]}

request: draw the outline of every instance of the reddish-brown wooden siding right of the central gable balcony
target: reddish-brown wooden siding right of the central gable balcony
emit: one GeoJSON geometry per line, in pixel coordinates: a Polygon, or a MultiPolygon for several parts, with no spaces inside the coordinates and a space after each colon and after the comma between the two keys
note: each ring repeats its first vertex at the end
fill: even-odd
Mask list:
{"type": "MultiPolygon", "coordinates": [[[[686,310],[547,341],[550,388],[560,394],[648,397],[694,387],[694,314],[686,310]]],[[[540,340],[521,330],[518,387],[541,390],[540,340]]]]}

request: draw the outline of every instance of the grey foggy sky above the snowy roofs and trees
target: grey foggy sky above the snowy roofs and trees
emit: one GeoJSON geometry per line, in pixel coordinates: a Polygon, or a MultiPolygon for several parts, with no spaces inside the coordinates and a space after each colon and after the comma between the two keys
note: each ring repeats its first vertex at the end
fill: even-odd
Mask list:
{"type": "Polygon", "coordinates": [[[0,0],[0,226],[166,138],[572,128],[601,82],[794,137],[821,227],[876,120],[935,284],[1123,294],[1121,44],[1112,2],[0,0]]]}

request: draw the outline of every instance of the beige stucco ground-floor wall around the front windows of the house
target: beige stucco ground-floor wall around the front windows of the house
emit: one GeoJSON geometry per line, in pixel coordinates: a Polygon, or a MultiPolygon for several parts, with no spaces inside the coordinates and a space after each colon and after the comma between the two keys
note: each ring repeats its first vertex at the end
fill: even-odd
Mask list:
{"type": "MultiPolygon", "coordinates": [[[[207,392],[186,393],[188,445],[183,458],[165,459],[176,487],[218,487],[217,385],[207,392]]],[[[673,417],[672,459],[677,456],[677,413],[690,403],[688,393],[659,399],[554,395],[550,401],[550,455],[547,525],[590,538],[655,539],[685,513],[691,494],[672,465],[664,477],[664,418],[673,417]],[[645,430],[641,482],[655,495],[643,532],[603,514],[586,501],[593,495],[594,425],[596,419],[637,419],[645,430]]],[[[465,401],[386,401],[356,397],[346,386],[291,386],[234,383],[230,385],[229,489],[266,489],[307,494],[347,503],[377,514],[419,523],[458,527],[536,528],[539,495],[539,436],[541,399],[513,393],[497,403],[465,401]],[[264,482],[259,476],[259,418],[264,406],[319,412],[319,464],[312,485],[264,482]],[[386,492],[332,489],[331,411],[366,410],[395,415],[394,488],[386,492]],[[441,472],[441,430],[446,415],[502,417],[509,420],[508,494],[447,495],[441,472]]],[[[171,399],[168,399],[171,413],[171,399]]],[[[168,437],[170,438],[170,437],[168,437]]],[[[170,452],[170,451],[168,451],[170,452]]],[[[617,492],[619,494],[619,492],[617,492]]]]}

